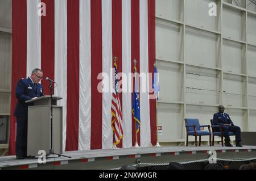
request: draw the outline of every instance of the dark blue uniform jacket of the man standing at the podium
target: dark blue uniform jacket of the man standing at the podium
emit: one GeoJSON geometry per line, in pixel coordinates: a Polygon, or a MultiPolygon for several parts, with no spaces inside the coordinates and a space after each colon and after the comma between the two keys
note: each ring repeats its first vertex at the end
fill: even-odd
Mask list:
{"type": "Polygon", "coordinates": [[[16,98],[18,99],[18,102],[16,104],[14,116],[26,117],[28,106],[32,106],[33,103],[27,104],[25,101],[40,96],[43,96],[43,86],[40,83],[35,86],[29,77],[20,79],[16,85],[16,98]]]}

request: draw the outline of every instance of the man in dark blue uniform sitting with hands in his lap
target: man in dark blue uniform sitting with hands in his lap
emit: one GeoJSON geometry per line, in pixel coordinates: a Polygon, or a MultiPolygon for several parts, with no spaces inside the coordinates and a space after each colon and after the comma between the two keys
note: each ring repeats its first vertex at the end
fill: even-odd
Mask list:
{"type": "Polygon", "coordinates": [[[241,142],[241,129],[234,125],[230,116],[224,113],[225,107],[218,106],[218,112],[213,115],[213,124],[221,125],[223,136],[225,136],[225,146],[233,146],[230,144],[229,132],[234,132],[236,134],[236,146],[242,147],[241,142]]]}

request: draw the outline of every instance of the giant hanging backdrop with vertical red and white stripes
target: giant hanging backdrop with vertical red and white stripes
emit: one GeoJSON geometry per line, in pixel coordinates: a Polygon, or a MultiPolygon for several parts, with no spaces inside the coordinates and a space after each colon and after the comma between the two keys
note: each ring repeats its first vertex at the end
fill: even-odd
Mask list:
{"type": "MultiPolygon", "coordinates": [[[[13,0],[13,62],[9,154],[15,154],[15,85],[41,68],[55,79],[55,95],[62,96],[63,149],[112,147],[112,93],[97,90],[99,73],[110,74],[113,56],[118,71],[154,75],[155,0],[13,0]],[[39,3],[46,16],[39,16],[39,3]]],[[[44,94],[48,83],[42,80],[44,94]]],[[[135,144],[131,93],[121,93],[122,148],[135,144]]],[[[141,146],[156,144],[155,99],[141,93],[141,146]]]]}

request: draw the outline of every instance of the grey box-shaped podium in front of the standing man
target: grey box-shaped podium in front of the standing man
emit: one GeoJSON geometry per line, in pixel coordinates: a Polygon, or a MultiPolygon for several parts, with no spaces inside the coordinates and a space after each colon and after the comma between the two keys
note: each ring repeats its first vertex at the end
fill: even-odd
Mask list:
{"type": "MultiPolygon", "coordinates": [[[[52,96],[52,146],[58,154],[63,152],[63,107],[57,106],[60,99],[59,96],[52,96]]],[[[48,154],[51,149],[51,96],[41,96],[26,103],[34,103],[34,106],[28,106],[27,155],[38,156],[39,150],[48,154]]]]}

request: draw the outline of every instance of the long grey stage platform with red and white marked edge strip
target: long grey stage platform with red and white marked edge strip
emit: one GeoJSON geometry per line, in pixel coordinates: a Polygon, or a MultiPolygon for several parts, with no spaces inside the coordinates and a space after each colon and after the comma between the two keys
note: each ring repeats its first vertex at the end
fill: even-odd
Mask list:
{"type": "MultiPolygon", "coordinates": [[[[0,157],[0,169],[117,169],[136,163],[200,162],[208,159],[209,150],[215,150],[217,159],[255,159],[256,146],[163,146],[150,148],[127,148],[88,151],[68,151],[64,155],[72,158],[47,158],[38,163],[38,158],[17,160],[15,156],[0,157]]],[[[51,156],[53,157],[53,155],[51,156]]],[[[150,165],[149,164],[149,165],[150,165]]],[[[146,165],[140,165],[142,168],[146,165]]]]}

